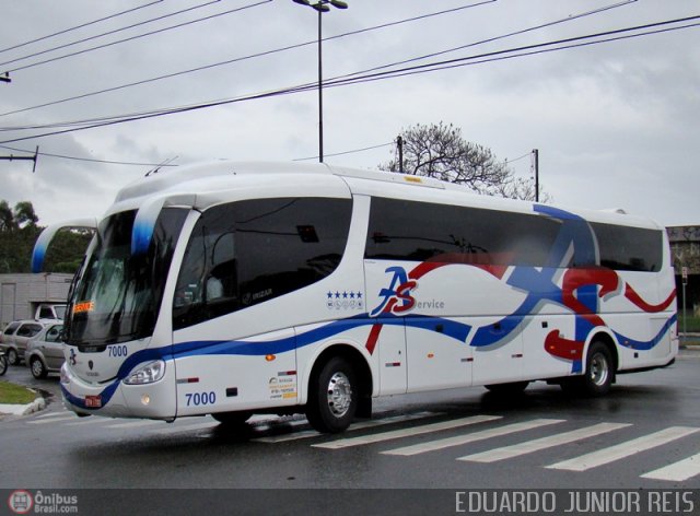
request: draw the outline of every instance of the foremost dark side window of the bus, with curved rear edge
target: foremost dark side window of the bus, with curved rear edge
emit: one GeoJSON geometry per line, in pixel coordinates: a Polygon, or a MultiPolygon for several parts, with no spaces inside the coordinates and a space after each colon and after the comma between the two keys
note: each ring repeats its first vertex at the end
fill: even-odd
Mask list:
{"type": "Polygon", "coordinates": [[[206,210],[187,244],[173,302],[185,328],[311,285],[340,263],[352,201],[250,199],[206,210]]]}

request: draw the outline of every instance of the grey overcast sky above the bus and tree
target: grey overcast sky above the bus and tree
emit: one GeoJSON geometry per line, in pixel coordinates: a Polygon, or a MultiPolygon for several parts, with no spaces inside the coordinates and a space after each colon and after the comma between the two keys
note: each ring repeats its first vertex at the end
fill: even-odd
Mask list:
{"type": "MultiPolygon", "coordinates": [[[[7,148],[33,152],[36,145],[40,153],[144,164],[317,155],[316,90],[39,137],[67,129],[66,122],[317,81],[316,11],[292,0],[206,3],[0,0],[0,73],[9,70],[12,79],[0,82],[0,155],[27,155],[7,148]],[[188,8],[196,9],[142,24],[188,8]],[[237,8],[246,9],[215,16],[237,8]],[[133,11],[24,45],[126,10],[133,11]],[[206,16],[213,17],[195,22],[206,16]],[[97,46],[105,47],[90,50],[97,46]],[[81,50],[89,51],[55,59],[81,50]],[[50,61],[38,63],[45,60],[50,61]],[[224,61],[234,62],[92,95],[224,61]],[[47,103],[52,105],[36,107],[47,103]],[[20,129],[27,126],[38,128],[20,129]]],[[[324,37],[347,34],[324,43],[327,79],[456,47],[464,48],[402,67],[700,15],[697,0],[348,3],[348,10],[323,15],[324,37]],[[435,15],[421,17],[429,14],[435,15]],[[392,24],[413,17],[420,19],[392,24]],[[526,31],[540,25],[546,26],[526,31]]],[[[326,162],[375,168],[392,157],[390,142],[402,128],[444,121],[512,162],[522,177],[530,177],[529,153],[538,149],[540,181],[556,204],[623,208],[665,225],[700,224],[700,26],[679,28],[695,23],[700,19],[660,25],[657,31],[673,30],[658,34],[480,63],[462,60],[467,66],[326,89],[326,162]],[[372,146],[377,148],[330,156],[372,146]]],[[[31,162],[0,161],[0,199],[12,206],[31,200],[42,224],[101,215],[120,187],[150,168],[39,155],[32,173],[31,162]]]]}

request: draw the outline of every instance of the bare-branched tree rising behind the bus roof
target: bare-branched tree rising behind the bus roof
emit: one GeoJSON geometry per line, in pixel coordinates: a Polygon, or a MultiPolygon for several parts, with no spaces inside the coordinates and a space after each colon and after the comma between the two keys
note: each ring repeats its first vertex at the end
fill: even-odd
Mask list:
{"type": "MultiPolygon", "coordinates": [[[[405,174],[456,183],[489,196],[535,199],[533,180],[515,177],[490,149],[466,141],[462,129],[452,124],[417,124],[402,130],[401,138],[405,174]]],[[[399,172],[398,150],[380,169],[399,172]]]]}

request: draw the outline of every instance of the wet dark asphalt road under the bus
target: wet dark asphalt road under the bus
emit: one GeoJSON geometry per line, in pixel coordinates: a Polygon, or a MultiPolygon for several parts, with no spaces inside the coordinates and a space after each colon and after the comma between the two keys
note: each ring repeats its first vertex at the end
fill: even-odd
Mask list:
{"type": "Polygon", "coordinates": [[[653,477],[700,454],[700,350],[684,350],[664,370],[619,376],[603,399],[571,399],[544,383],[510,400],[478,387],[383,399],[372,420],[339,436],[317,434],[302,418],[257,418],[237,432],[211,418],[173,424],[78,419],[60,403],[58,377],[35,380],[28,370],[13,367],[7,379],[42,389],[49,404],[0,421],[5,490],[700,488],[700,474],[653,477]],[[551,445],[560,434],[600,424],[612,430],[551,445]],[[599,450],[611,457],[628,442],[668,432],[680,436],[590,469],[570,467],[578,457],[599,450]],[[464,459],[538,443],[539,449],[503,460],[464,459]]]}

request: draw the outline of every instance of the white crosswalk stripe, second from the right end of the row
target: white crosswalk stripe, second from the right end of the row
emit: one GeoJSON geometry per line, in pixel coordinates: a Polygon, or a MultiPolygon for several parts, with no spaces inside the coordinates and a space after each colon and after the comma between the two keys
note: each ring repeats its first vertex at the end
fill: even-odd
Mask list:
{"type": "Polygon", "coordinates": [[[626,443],[603,448],[591,454],[585,454],[580,457],[575,457],[570,460],[563,460],[550,466],[548,469],[565,469],[569,471],[586,471],[591,468],[596,468],[616,460],[623,459],[631,455],[645,452],[656,446],[670,443],[687,435],[693,434],[700,431],[690,426],[670,426],[653,434],[644,435],[635,439],[628,441],[626,443]]]}

